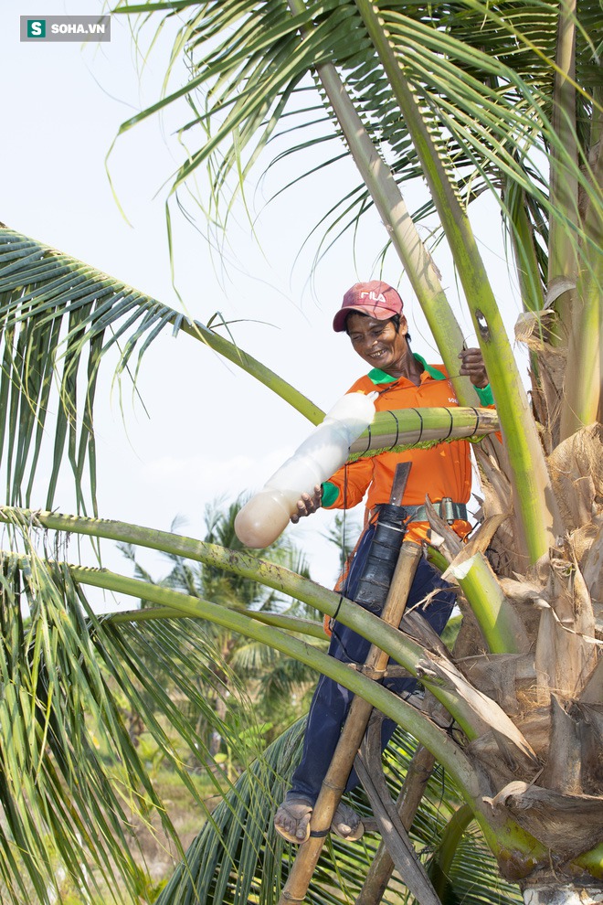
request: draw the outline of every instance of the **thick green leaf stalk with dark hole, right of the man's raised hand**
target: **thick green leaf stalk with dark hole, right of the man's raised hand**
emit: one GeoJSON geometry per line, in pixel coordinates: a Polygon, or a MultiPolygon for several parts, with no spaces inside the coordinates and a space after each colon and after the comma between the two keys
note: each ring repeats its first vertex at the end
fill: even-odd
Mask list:
{"type": "Polygon", "coordinates": [[[532,562],[555,542],[560,520],[545,457],[488,275],[481,262],[469,218],[450,183],[439,149],[428,131],[375,7],[355,0],[412,135],[431,197],[450,243],[488,369],[507,446],[513,506],[532,562]]]}

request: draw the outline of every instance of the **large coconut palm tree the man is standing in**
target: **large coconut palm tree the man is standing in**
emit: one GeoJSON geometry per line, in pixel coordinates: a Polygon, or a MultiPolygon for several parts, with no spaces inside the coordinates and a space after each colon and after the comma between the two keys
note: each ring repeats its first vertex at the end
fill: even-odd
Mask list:
{"type": "MultiPolygon", "coordinates": [[[[5,508],[3,517],[27,530],[34,524],[161,545],[217,568],[251,575],[321,612],[332,614],[338,609],[339,619],[421,676],[458,728],[447,733],[437,719],[392,698],[366,676],[351,676],[341,665],[325,662],[313,645],[293,637],[291,629],[300,626],[287,623],[286,617],[268,616],[264,618],[270,624],[259,623],[252,611],[226,612],[212,602],[170,589],[142,588],[136,580],[106,572],[66,570],[48,564],[48,558],[36,557],[28,548],[25,558],[7,559],[10,571],[5,582],[15,609],[20,576],[26,576],[23,589],[36,616],[32,615],[35,630],[24,634],[13,613],[5,631],[5,646],[11,652],[7,661],[18,662],[21,678],[26,670],[23,686],[30,689],[29,697],[18,697],[19,706],[25,707],[24,699],[36,702],[22,717],[23,726],[29,716],[29,725],[36,728],[31,729],[36,743],[30,739],[27,747],[24,730],[24,742],[16,749],[23,752],[27,775],[35,775],[36,766],[50,783],[55,775],[50,765],[55,769],[56,761],[63,780],[53,788],[61,814],[67,813],[69,799],[62,793],[72,785],[77,759],[66,758],[63,752],[64,747],[72,750],[67,718],[57,727],[53,722],[56,715],[49,692],[57,694],[53,676],[58,674],[50,668],[56,662],[52,659],[55,648],[45,644],[48,617],[40,609],[43,595],[36,589],[45,590],[53,602],[52,612],[68,607],[76,620],[80,611],[73,602],[81,596],[80,583],[88,581],[144,597],[161,608],[113,616],[102,624],[89,613],[90,623],[79,627],[79,633],[89,639],[96,656],[106,655],[111,644],[121,644],[124,624],[128,631],[145,631],[154,637],[152,626],[160,620],[184,615],[227,624],[286,650],[351,687],[431,752],[457,783],[502,876],[520,883],[526,901],[602,901],[600,10],[589,3],[575,8],[542,0],[531,6],[465,0],[437,7],[394,0],[378,5],[366,0],[320,4],[172,0],[124,4],[119,11],[143,17],[157,11],[180,16],[183,22],[175,51],[187,54],[190,81],[124,126],[187,97],[192,112],[183,123],[183,133],[194,136],[194,127],[202,124],[203,141],[189,151],[175,191],[196,166],[209,162],[214,177],[211,201],[219,203],[222,198],[228,206],[228,176],[237,172],[244,180],[279,129],[290,136],[287,154],[302,154],[309,142],[325,138],[338,143],[334,161],[342,153],[343,139],[345,153],[358,166],[360,184],[351,186],[328,227],[332,232],[342,229],[365,208],[376,206],[441,355],[454,373],[460,330],[416,229],[419,218],[437,214],[488,367],[503,443],[499,448],[482,442],[477,451],[485,498],[481,529],[470,545],[460,547],[446,525],[435,514],[432,517],[442,539],[430,555],[458,583],[464,617],[454,656],[432,637],[397,633],[369,614],[357,612],[354,604],[340,602],[311,582],[245,553],[228,553],[185,538],[160,538],[157,532],[136,527],[52,513],[33,518],[5,508]],[[317,89],[313,94],[310,78],[317,89]],[[315,100],[300,104],[301,97],[315,100]],[[317,137],[309,132],[307,138],[303,123],[315,122],[319,111],[324,111],[325,133],[317,137]],[[288,129],[291,122],[297,124],[296,130],[288,129]],[[427,181],[428,196],[411,218],[399,186],[418,174],[427,181]],[[521,285],[525,312],[517,333],[530,349],[531,399],[524,392],[467,214],[471,201],[483,192],[492,193],[500,204],[521,285]],[[17,654],[25,650],[23,663],[23,656],[17,654]]],[[[56,430],[56,467],[66,449],[74,474],[81,479],[87,457],[93,453],[91,410],[100,355],[113,343],[113,335],[125,340],[124,366],[137,344],[142,354],[164,325],[175,324],[219,347],[313,423],[320,420],[321,413],[312,403],[214,331],[10,230],[2,239],[5,354],[0,394],[12,502],[28,502],[27,475],[37,465],[49,392],[57,375],[63,407],[56,430]],[[66,340],[61,334],[63,323],[66,340]],[[107,339],[110,326],[114,334],[107,339]],[[61,340],[67,351],[58,361],[55,350],[61,340]],[[82,362],[88,374],[80,409],[76,389],[82,362]]],[[[457,381],[456,389],[461,403],[474,405],[471,390],[462,381],[457,381]]],[[[475,418],[475,411],[468,411],[475,418]]],[[[471,415],[460,410],[462,417],[471,415]]],[[[416,426],[402,423],[396,438],[382,438],[381,447],[423,441],[425,426],[421,420],[419,435],[416,426]]],[[[378,448],[378,430],[386,434],[387,427],[375,428],[371,442],[378,448]]],[[[437,431],[437,426],[433,429],[437,431]]],[[[430,440],[455,436],[456,429],[452,417],[444,416],[439,434],[431,433],[430,440]]],[[[480,432],[476,421],[472,429],[467,422],[460,425],[459,431],[463,430],[480,432]]],[[[481,432],[486,430],[481,427],[481,432]]],[[[366,454],[363,443],[360,450],[366,454]]],[[[50,482],[48,508],[56,474],[50,482]]],[[[53,629],[59,632],[61,626],[57,616],[53,629]]],[[[74,628],[69,631],[79,638],[74,628]]],[[[66,650],[73,653],[76,648],[73,641],[66,650]]],[[[123,656],[135,672],[127,652],[123,656]]],[[[70,664],[69,657],[64,658],[61,676],[70,664]]],[[[87,674],[89,695],[96,702],[98,719],[100,715],[106,719],[100,707],[101,674],[88,665],[94,660],[90,654],[87,669],[94,681],[87,674]]],[[[185,686],[184,669],[182,682],[185,686]]],[[[69,689],[61,686],[60,690],[73,704],[69,689]]],[[[169,711],[167,701],[165,707],[169,711]]],[[[110,709],[107,712],[111,714],[110,709]]],[[[0,720],[0,728],[7,731],[8,718],[0,720]]],[[[184,726],[182,732],[190,738],[184,726]]],[[[107,735],[119,733],[108,731],[107,735]]],[[[6,751],[9,747],[4,745],[6,751]]],[[[143,782],[132,752],[116,751],[125,757],[123,762],[138,782],[143,782]]],[[[9,766],[16,769],[14,763],[9,766]]],[[[18,766],[25,769],[21,761],[18,766]]],[[[86,783],[82,788],[90,789],[91,771],[77,775],[86,783]]],[[[258,788],[264,791],[269,784],[258,780],[258,788]]],[[[32,783],[27,808],[36,806],[37,815],[44,815],[48,825],[48,802],[32,804],[37,802],[36,792],[32,783]]],[[[232,794],[236,798],[239,791],[232,794]]],[[[15,802],[20,802],[17,790],[6,787],[3,804],[12,836],[5,838],[5,851],[11,851],[15,838],[19,850],[26,853],[20,857],[26,857],[27,869],[39,878],[43,874],[36,873],[38,861],[44,861],[47,849],[34,837],[29,810],[24,812],[15,802]],[[39,858],[30,855],[32,851],[39,858]]],[[[84,825],[85,802],[82,795],[69,815],[73,834],[84,825]]],[[[252,817],[254,806],[248,806],[252,817]]],[[[100,836],[90,836],[91,850],[104,851],[100,836]]],[[[450,842],[454,830],[444,836],[450,842]]],[[[60,852],[69,865],[73,851],[73,845],[65,845],[60,852]]],[[[230,882],[238,875],[236,864],[229,860],[235,854],[234,848],[226,846],[224,857],[232,865],[230,882]]],[[[11,864],[6,855],[5,878],[12,877],[11,864]]],[[[271,883],[272,878],[262,883],[258,895],[263,900],[270,898],[271,883]]],[[[413,888],[410,881],[407,885],[413,888]]],[[[39,879],[38,886],[42,886],[39,879]]],[[[211,889],[206,894],[214,895],[211,889]]],[[[429,895],[425,893],[425,901],[429,895]]]]}

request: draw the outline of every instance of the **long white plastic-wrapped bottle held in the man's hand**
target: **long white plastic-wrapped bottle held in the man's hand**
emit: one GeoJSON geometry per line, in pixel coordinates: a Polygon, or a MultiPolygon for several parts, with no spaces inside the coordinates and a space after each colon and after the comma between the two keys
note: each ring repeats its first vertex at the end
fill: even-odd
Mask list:
{"type": "Polygon", "coordinates": [[[351,444],[375,417],[376,393],[347,393],[324,421],[252,496],[235,519],[235,532],[246,547],[270,547],[297,511],[302,494],[314,493],[345,463],[351,444]]]}

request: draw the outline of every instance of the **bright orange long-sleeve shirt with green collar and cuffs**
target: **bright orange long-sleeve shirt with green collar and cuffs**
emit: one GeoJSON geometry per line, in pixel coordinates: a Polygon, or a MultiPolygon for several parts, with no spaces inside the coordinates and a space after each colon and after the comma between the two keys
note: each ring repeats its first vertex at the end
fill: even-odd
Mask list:
{"type": "MultiPolygon", "coordinates": [[[[445,406],[454,408],[459,402],[443,365],[428,365],[415,355],[424,367],[421,382],[416,386],[407,378],[392,378],[375,368],[356,380],[348,390],[369,393],[376,390],[376,410],[397,410],[445,406]]],[[[482,405],[492,404],[490,387],[479,390],[482,405]]],[[[403,506],[421,506],[426,495],[432,502],[450,497],[454,503],[467,503],[471,495],[471,460],[469,443],[464,440],[439,443],[430,449],[410,449],[406,452],[381,452],[370,458],[344,465],[323,484],[323,506],[327,509],[351,508],[360,503],[366,492],[366,518],[375,506],[388,503],[394,472],[399,462],[411,462],[403,506]]],[[[471,526],[457,521],[453,525],[464,537],[471,526]]],[[[409,527],[407,538],[422,540],[428,536],[428,523],[417,522],[409,527]]]]}

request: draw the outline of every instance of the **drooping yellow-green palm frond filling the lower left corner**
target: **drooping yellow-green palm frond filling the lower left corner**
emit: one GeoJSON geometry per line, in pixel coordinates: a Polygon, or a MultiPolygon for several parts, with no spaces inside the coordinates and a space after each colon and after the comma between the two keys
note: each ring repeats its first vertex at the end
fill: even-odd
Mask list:
{"type": "MultiPolygon", "coordinates": [[[[200,623],[115,626],[94,615],[69,570],[37,557],[26,535],[21,544],[28,555],[5,555],[0,571],[0,897],[49,902],[65,870],[82,894],[134,899],[142,856],[132,821],[154,819],[182,850],[126,715],[142,720],[206,817],[190,766],[211,762],[198,719],[227,736],[239,763],[257,751],[203,692],[217,685],[217,652],[200,623]]],[[[228,691],[249,715],[235,677],[228,691]]],[[[206,775],[221,793],[226,777],[206,775]]]]}

